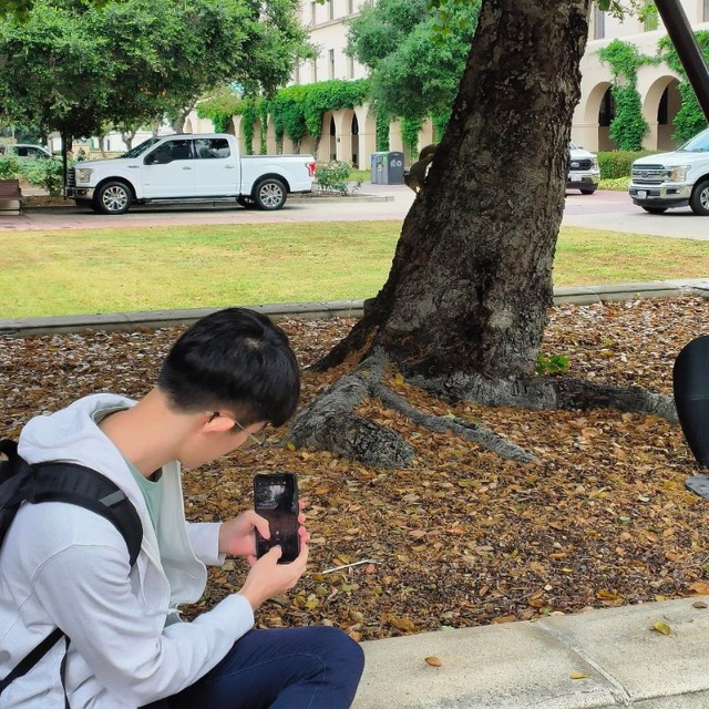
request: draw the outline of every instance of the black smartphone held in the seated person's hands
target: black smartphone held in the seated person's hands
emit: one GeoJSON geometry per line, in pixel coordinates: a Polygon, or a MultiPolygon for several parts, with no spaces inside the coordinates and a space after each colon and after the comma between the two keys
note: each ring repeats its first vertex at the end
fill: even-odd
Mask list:
{"type": "Polygon", "coordinates": [[[256,531],[256,557],[274,546],[282,548],[279,564],[290,564],[300,554],[298,534],[298,481],[292,473],[258,474],[254,476],[254,510],[268,520],[270,540],[256,531]]]}

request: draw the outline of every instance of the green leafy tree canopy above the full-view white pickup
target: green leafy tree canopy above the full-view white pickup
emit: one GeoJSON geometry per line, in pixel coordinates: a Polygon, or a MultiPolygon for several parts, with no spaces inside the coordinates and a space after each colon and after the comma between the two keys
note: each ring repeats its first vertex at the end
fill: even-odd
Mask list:
{"type": "Polygon", "coordinates": [[[297,0],[35,0],[0,21],[0,111],[80,136],[179,113],[226,82],[273,93],[310,52],[297,10],[297,0]]]}

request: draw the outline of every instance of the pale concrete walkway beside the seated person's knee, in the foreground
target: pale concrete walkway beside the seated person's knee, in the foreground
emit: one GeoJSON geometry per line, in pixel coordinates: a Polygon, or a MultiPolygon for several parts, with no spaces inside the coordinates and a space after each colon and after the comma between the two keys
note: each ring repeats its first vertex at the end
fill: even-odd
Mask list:
{"type": "Polygon", "coordinates": [[[352,707],[706,709],[708,602],[697,596],[366,641],[352,707]],[[654,630],[656,623],[669,635],[654,630]]]}

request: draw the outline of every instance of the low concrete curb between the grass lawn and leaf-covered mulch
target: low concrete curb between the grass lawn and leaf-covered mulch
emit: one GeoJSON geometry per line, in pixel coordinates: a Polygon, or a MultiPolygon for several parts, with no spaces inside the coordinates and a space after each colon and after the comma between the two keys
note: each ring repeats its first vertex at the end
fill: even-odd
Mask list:
{"type": "MultiPolygon", "coordinates": [[[[554,305],[589,305],[636,298],[672,298],[685,294],[709,297],[709,278],[658,280],[637,284],[559,287],[554,289],[554,305]]],[[[359,318],[363,300],[331,300],[322,302],[281,302],[246,306],[275,320],[284,318],[359,318]]],[[[31,337],[55,332],[86,330],[134,330],[189,325],[218,308],[185,308],[179,310],[144,310],[137,312],[106,312],[96,315],[53,316],[0,320],[0,336],[31,337]]]]}

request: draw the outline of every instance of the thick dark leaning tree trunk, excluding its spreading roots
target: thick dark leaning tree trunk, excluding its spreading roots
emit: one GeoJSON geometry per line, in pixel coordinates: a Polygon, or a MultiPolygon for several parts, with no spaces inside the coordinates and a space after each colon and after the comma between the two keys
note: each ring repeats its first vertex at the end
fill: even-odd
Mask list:
{"type": "Polygon", "coordinates": [[[484,0],[427,188],[373,307],[319,364],[382,347],[407,376],[533,374],[552,302],[588,0],[484,0]]]}

